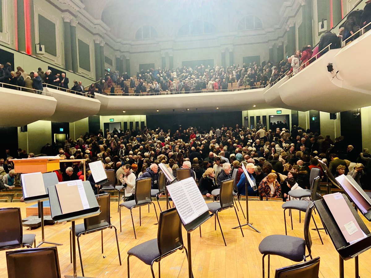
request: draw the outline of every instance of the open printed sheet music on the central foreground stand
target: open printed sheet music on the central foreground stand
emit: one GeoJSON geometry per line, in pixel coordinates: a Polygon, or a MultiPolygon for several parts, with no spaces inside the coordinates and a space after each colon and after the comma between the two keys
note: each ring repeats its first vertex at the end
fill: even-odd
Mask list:
{"type": "Polygon", "coordinates": [[[167,190],[173,200],[183,225],[187,225],[209,211],[194,179],[188,178],[170,184],[167,190]]]}

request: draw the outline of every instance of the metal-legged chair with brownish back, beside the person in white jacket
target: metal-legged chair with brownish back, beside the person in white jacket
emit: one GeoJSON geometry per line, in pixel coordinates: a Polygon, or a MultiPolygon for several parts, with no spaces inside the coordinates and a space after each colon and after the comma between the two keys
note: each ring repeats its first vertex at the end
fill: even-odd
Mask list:
{"type": "Polygon", "coordinates": [[[124,207],[124,208],[130,209],[131,221],[133,223],[134,236],[135,236],[135,239],[137,239],[137,234],[135,233],[132,209],[139,208],[139,226],[141,226],[142,225],[141,206],[150,205],[151,203],[153,204],[153,207],[155,209],[157,223],[158,223],[156,206],[155,206],[155,203],[152,202],[152,199],[151,199],[151,178],[137,179],[137,181],[135,182],[135,199],[131,201],[123,202],[119,206],[120,232],[121,232],[121,208],[124,207]]]}

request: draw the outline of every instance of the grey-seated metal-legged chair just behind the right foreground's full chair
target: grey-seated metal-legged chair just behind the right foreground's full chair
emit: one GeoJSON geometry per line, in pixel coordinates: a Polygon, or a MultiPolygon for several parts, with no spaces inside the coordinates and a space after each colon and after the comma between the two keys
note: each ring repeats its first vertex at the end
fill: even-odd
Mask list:
{"type": "MultiPolygon", "coordinates": [[[[320,198],[319,195],[317,194],[317,189],[318,188],[319,188],[319,176],[316,177],[313,180],[313,183],[312,183],[311,196],[310,196],[311,201],[316,201],[316,200],[318,200],[320,198]]],[[[291,196],[290,194],[292,192],[294,192],[294,191],[299,191],[299,190],[291,190],[291,191],[289,191],[289,196],[291,196]]],[[[286,201],[285,203],[283,203],[282,208],[283,208],[283,219],[285,221],[285,235],[287,235],[286,209],[289,209],[290,211],[291,211],[291,209],[298,210],[299,211],[299,223],[300,223],[301,222],[301,212],[305,212],[306,211],[306,207],[308,206],[308,203],[309,203],[309,201],[305,201],[305,200],[292,200],[292,201],[286,201]]],[[[290,218],[291,218],[291,229],[293,229],[293,225],[292,225],[292,212],[290,213],[290,218]]],[[[319,229],[317,227],[317,224],[316,224],[316,221],[314,220],[313,215],[312,215],[312,219],[313,219],[313,224],[315,225],[316,230],[318,232],[319,239],[321,240],[321,243],[323,245],[324,243],[322,241],[321,234],[319,234],[319,229]]],[[[326,231],[326,234],[327,234],[327,231],[326,231]]]]}

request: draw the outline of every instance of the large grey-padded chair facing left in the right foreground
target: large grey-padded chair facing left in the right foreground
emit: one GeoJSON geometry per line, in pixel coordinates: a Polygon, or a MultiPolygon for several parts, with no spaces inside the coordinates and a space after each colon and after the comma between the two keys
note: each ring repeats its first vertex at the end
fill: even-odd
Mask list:
{"type": "Polygon", "coordinates": [[[270,255],[278,255],[294,262],[306,261],[308,257],[312,259],[312,238],[309,233],[309,224],[311,222],[313,208],[314,204],[310,201],[305,212],[304,239],[288,235],[269,235],[260,242],[259,252],[263,254],[263,278],[265,277],[264,258],[266,255],[268,255],[268,278],[270,255]],[[308,255],[305,255],[305,248],[308,250],[308,255]]]}

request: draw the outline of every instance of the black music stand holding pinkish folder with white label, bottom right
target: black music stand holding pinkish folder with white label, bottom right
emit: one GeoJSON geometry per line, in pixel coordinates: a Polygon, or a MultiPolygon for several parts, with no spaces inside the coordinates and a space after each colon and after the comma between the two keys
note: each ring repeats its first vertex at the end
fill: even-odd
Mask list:
{"type": "Polygon", "coordinates": [[[347,196],[345,194],[342,195],[344,196],[344,199],[347,202],[347,205],[349,206],[352,214],[354,215],[354,218],[357,221],[359,227],[367,235],[367,237],[352,244],[349,244],[345,240],[342,232],[339,229],[338,224],[336,224],[336,221],[331,214],[330,209],[326,205],[325,200],[321,199],[315,201],[314,206],[322,219],[322,223],[328,231],[332,244],[334,244],[336,251],[338,251],[339,253],[339,278],[344,278],[344,261],[351,258],[355,259],[355,277],[358,278],[358,255],[371,248],[371,233],[362,221],[361,217],[358,215],[356,209],[353,208],[347,196]]]}

